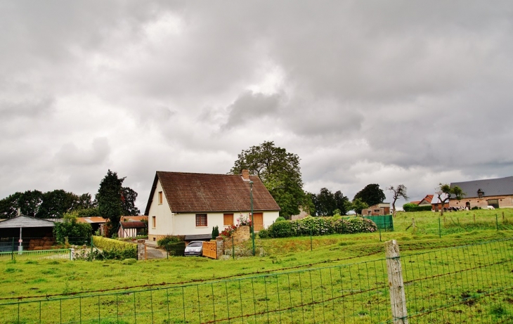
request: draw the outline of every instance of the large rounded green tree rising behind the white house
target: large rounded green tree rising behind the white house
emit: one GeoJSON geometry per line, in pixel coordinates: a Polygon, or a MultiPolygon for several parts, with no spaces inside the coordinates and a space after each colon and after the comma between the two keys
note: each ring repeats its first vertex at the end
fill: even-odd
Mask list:
{"type": "Polygon", "coordinates": [[[261,145],[242,150],[230,169],[230,174],[240,174],[243,169],[259,176],[280,206],[282,216],[289,218],[299,214],[305,193],[299,157],[296,154],[288,153],[285,148],[278,148],[273,141],[264,141],[261,145]]]}

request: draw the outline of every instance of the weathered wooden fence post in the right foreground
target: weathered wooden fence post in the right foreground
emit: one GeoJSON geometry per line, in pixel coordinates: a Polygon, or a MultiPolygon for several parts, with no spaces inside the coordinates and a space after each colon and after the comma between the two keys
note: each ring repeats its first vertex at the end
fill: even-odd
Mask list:
{"type": "Polygon", "coordinates": [[[403,271],[399,245],[396,240],[385,242],[387,256],[387,272],[389,277],[390,305],[394,324],[408,324],[406,297],[404,292],[403,271]]]}

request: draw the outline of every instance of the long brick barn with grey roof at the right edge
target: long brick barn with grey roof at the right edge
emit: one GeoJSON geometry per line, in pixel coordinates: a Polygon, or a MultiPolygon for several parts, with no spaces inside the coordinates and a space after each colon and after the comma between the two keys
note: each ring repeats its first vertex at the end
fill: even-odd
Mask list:
{"type": "Polygon", "coordinates": [[[462,200],[450,199],[451,207],[513,208],[513,176],[450,183],[465,193],[462,200]]]}

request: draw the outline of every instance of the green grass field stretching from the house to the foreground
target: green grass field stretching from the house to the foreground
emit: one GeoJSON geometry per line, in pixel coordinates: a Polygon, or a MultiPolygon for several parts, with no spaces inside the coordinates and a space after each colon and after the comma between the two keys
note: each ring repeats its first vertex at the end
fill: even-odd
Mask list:
{"type": "MultiPolygon", "coordinates": [[[[415,296],[417,296],[415,300],[417,298],[423,300],[424,298],[419,296],[424,296],[424,294],[425,296],[429,296],[429,294],[447,295],[448,299],[469,298],[469,300],[472,300],[472,303],[469,302],[472,307],[467,305],[452,308],[455,309],[453,314],[456,315],[454,316],[459,316],[456,318],[458,323],[464,323],[465,320],[488,323],[486,320],[490,320],[489,316],[483,317],[483,313],[490,313],[490,316],[495,316],[492,317],[495,320],[507,318],[509,310],[497,309],[495,304],[498,299],[510,298],[513,301],[513,296],[509,297],[509,295],[501,292],[500,297],[498,295],[495,298],[487,294],[486,299],[479,299],[481,303],[474,302],[476,294],[480,295],[484,292],[480,292],[480,290],[472,291],[471,287],[466,285],[469,285],[468,282],[479,283],[478,274],[488,277],[487,280],[491,280],[490,283],[486,282],[486,286],[489,286],[490,289],[498,283],[510,285],[511,278],[509,276],[511,276],[511,272],[509,270],[513,270],[513,267],[507,271],[502,268],[511,266],[508,261],[511,254],[507,253],[509,252],[509,245],[505,247],[504,251],[497,252],[500,258],[498,262],[486,259],[488,254],[493,254],[491,252],[494,251],[492,247],[491,250],[479,250],[477,248],[469,252],[462,250],[463,252],[458,252],[459,254],[455,254],[454,251],[460,250],[453,249],[450,250],[452,251],[450,253],[454,254],[452,257],[448,257],[449,252],[439,252],[441,254],[433,254],[434,257],[427,256],[447,247],[512,238],[513,226],[509,223],[509,220],[513,221],[513,209],[453,212],[446,213],[444,216],[439,218],[439,214],[433,212],[400,212],[394,219],[395,231],[382,232],[381,241],[379,233],[327,235],[313,238],[257,239],[257,257],[242,257],[235,260],[218,261],[198,257],[170,257],[162,260],[137,261],[135,264],[131,264],[127,261],[87,262],[63,259],[15,259],[11,261],[8,259],[0,261],[0,304],[84,296],[84,299],[64,299],[67,307],[73,310],[65,312],[64,319],[56,319],[58,312],[56,307],[39,306],[39,312],[41,313],[42,309],[42,317],[46,318],[46,321],[41,320],[41,323],[72,323],[79,321],[77,318],[81,318],[82,314],[77,315],[77,303],[82,302],[84,304],[80,304],[82,306],[80,308],[84,309],[83,316],[85,318],[91,316],[91,318],[95,318],[97,315],[95,313],[96,309],[100,313],[100,319],[96,322],[90,320],[83,323],[116,323],[119,316],[121,316],[119,323],[135,323],[135,321],[137,323],[204,323],[212,320],[214,311],[208,307],[202,309],[200,302],[195,306],[196,308],[189,307],[188,303],[185,302],[186,299],[213,299],[212,307],[214,309],[216,309],[217,304],[214,299],[226,299],[224,304],[219,302],[216,312],[228,311],[230,313],[231,305],[232,314],[242,314],[239,319],[233,318],[233,320],[230,320],[233,323],[238,323],[241,318],[242,322],[247,319],[244,323],[268,323],[265,316],[261,318],[261,316],[254,315],[252,319],[246,317],[243,309],[250,309],[251,306],[254,306],[255,311],[253,313],[260,313],[261,311],[258,311],[257,307],[262,307],[264,311],[268,311],[269,304],[275,305],[272,307],[278,310],[271,313],[273,320],[270,323],[278,321],[278,319],[283,323],[318,323],[323,321],[330,323],[329,318],[339,318],[340,316],[347,318],[349,323],[379,323],[385,320],[389,313],[388,296],[386,287],[384,287],[386,280],[386,273],[383,272],[383,267],[386,268],[386,266],[383,266],[384,242],[394,239],[398,240],[401,247],[401,256],[405,258],[410,256],[408,266],[412,266],[410,268],[412,273],[408,274],[409,278],[436,278],[435,276],[439,276],[444,271],[450,273],[448,277],[443,279],[449,279],[449,281],[436,283],[436,281],[431,280],[428,283],[419,280],[421,286],[424,283],[422,287],[417,287],[417,284],[414,284],[416,283],[415,280],[412,280],[410,289],[415,288],[415,290],[422,291],[422,293],[415,291],[415,296]],[[504,218],[502,212],[504,212],[504,218]],[[411,226],[412,219],[415,220],[415,227],[411,226]],[[497,228],[499,228],[499,231],[497,228]],[[441,238],[439,237],[440,234],[441,238]],[[465,253],[469,256],[467,257],[465,253]],[[471,254],[474,261],[470,258],[471,254]],[[448,259],[444,260],[444,257],[448,259]],[[457,259],[457,263],[453,262],[453,259],[457,259]],[[479,266],[479,264],[486,264],[486,267],[479,266]],[[364,266],[367,268],[364,268],[364,266]],[[493,271],[491,271],[492,269],[493,271]],[[463,273],[467,278],[462,275],[463,273]],[[471,278],[468,278],[469,274],[471,278]],[[472,276],[476,276],[476,278],[473,279],[472,276]],[[329,282],[329,284],[325,285],[326,282],[329,282]],[[241,283],[242,287],[240,287],[241,283]],[[253,286],[252,291],[247,288],[249,283],[253,286]],[[337,291],[334,291],[333,287],[337,287],[337,285],[340,285],[337,291],[342,292],[342,294],[349,292],[347,299],[342,301],[335,299],[337,291]],[[450,287],[445,289],[445,286],[450,287]],[[283,287],[283,290],[279,289],[280,287],[283,287]],[[141,300],[136,300],[136,294],[134,293],[131,296],[134,297],[133,302],[124,301],[124,299],[120,302],[121,299],[119,298],[128,298],[126,297],[128,295],[120,294],[120,292],[153,288],[155,288],[153,292],[138,292],[138,297],[141,300]],[[218,296],[217,291],[222,290],[226,290],[226,294],[219,294],[218,296]],[[233,300],[228,298],[231,295],[229,293],[231,290],[235,290],[235,297],[230,297],[233,300]],[[290,300],[288,302],[280,300],[278,290],[285,292],[288,290],[288,293],[285,293],[284,296],[285,299],[290,300]],[[353,295],[352,292],[358,292],[358,294],[353,295]],[[102,297],[105,301],[100,302],[100,297],[98,297],[95,304],[89,297],[85,297],[99,293],[105,294],[105,297],[102,297]],[[252,296],[255,300],[248,300],[249,297],[245,297],[246,294],[252,296]],[[466,297],[467,294],[469,297],[466,297]],[[327,302],[327,304],[315,304],[319,299],[325,300],[326,296],[332,296],[333,299],[328,299],[330,302],[327,302]],[[114,299],[114,297],[117,299],[114,299]],[[158,306],[156,305],[155,309],[153,307],[145,309],[148,298],[160,301],[156,302],[158,306]],[[164,300],[166,302],[163,302],[164,300]],[[294,304],[296,301],[303,302],[302,304],[299,303],[301,305],[309,304],[309,300],[313,304],[301,307],[294,304]],[[488,302],[483,304],[484,300],[488,302]],[[335,302],[337,302],[337,307],[335,307],[335,302]],[[374,306],[368,306],[375,303],[380,304],[377,311],[374,306]],[[127,315],[130,313],[128,309],[124,311],[117,309],[115,311],[117,316],[108,315],[108,311],[105,311],[104,314],[100,305],[107,305],[102,307],[108,307],[111,304],[116,306],[134,304],[137,305],[138,313],[141,313],[132,316],[131,314],[127,315]],[[181,312],[183,311],[183,319],[181,319],[182,316],[178,316],[179,320],[177,318],[173,319],[169,316],[169,313],[166,319],[164,306],[169,307],[169,304],[175,306],[181,304],[178,309],[181,312]],[[279,311],[280,309],[287,309],[287,307],[290,308],[290,312],[288,310],[279,311]],[[156,309],[159,309],[159,311],[156,309]],[[320,320],[319,317],[316,318],[316,311],[318,316],[321,313],[323,314],[323,320],[320,320]],[[465,311],[468,311],[468,313],[465,311]],[[497,314],[493,315],[493,312],[497,314]],[[154,313],[155,318],[153,318],[154,315],[150,315],[154,313]],[[281,318],[282,313],[283,318],[281,318]],[[301,316],[299,316],[299,313],[301,313],[301,316]],[[185,318],[185,315],[193,316],[193,319],[185,318]],[[328,320],[326,320],[326,316],[328,320]],[[103,320],[103,318],[109,319],[103,320]],[[150,320],[150,318],[152,319],[150,320]],[[479,318],[481,318],[481,321],[479,318]],[[174,321],[171,321],[171,319],[174,321]],[[168,321],[166,322],[166,320],[168,321]]],[[[247,242],[247,244],[249,247],[251,243],[247,242]]],[[[488,249],[488,245],[486,247],[488,249]]],[[[484,282],[481,283],[484,284],[484,282]]],[[[429,299],[429,297],[426,297],[426,299],[429,299]]],[[[62,302],[60,303],[62,304],[62,302]]],[[[22,315],[31,313],[34,305],[22,304],[22,315]]],[[[13,310],[15,306],[0,305],[0,318],[11,318],[9,323],[39,323],[36,316],[37,312],[31,313],[32,317],[27,315],[28,319],[21,318],[18,322],[15,310],[13,310]]],[[[432,307],[432,305],[421,305],[420,302],[415,302],[415,305],[412,306],[416,312],[425,311],[429,307],[432,307]]],[[[60,313],[60,316],[63,316],[62,313],[60,313]]],[[[430,321],[426,321],[426,323],[446,323],[438,322],[435,319],[436,316],[431,318],[430,321]]],[[[267,320],[270,319],[267,318],[267,320]]],[[[495,320],[491,320],[490,323],[498,323],[495,320]]],[[[448,323],[456,322],[449,320],[448,323]]]]}

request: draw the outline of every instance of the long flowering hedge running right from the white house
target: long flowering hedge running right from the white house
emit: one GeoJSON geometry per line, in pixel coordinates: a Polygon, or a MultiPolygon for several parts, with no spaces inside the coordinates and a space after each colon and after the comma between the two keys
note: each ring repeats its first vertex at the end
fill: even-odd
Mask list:
{"type": "Polygon", "coordinates": [[[351,217],[305,217],[296,221],[276,221],[259,232],[260,238],[290,238],[304,235],[330,235],[349,233],[372,233],[377,226],[370,219],[351,217]]]}

